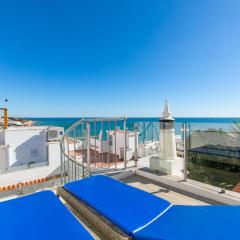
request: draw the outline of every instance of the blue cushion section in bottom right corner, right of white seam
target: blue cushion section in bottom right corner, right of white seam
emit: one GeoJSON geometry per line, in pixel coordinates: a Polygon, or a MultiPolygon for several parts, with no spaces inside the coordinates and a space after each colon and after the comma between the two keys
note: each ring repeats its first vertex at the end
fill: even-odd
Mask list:
{"type": "Polygon", "coordinates": [[[240,239],[239,206],[173,206],[134,234],[136,240],[240,239]]]}

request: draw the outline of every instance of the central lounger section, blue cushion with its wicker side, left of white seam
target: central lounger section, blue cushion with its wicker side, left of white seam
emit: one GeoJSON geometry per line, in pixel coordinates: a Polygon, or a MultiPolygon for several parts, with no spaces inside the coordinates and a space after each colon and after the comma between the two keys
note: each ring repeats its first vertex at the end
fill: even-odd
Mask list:
{"type": "Polygon", "coordinates": [[[136,229],[171,206],[107,176],[68,183],[57,192],[78,211],[80,219],[93,229],[102,230],[104,238],[109,239],[128,239],[136,229]]]}

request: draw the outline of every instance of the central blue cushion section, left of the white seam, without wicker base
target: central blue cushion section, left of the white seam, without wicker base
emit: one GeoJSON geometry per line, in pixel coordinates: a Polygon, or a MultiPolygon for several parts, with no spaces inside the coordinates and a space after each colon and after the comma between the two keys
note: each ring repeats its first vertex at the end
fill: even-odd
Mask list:
{"type": "Polygon", "coordinates": [[[67,183],[64,188],[128,235],[170,205],[147,192],[101,175],[67,183]]]}

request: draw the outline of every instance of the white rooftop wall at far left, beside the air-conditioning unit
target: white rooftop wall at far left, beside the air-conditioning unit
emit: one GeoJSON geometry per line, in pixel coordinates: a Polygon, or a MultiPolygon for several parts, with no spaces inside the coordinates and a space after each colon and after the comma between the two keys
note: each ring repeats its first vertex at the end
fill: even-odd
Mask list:
{"type": "Polygon", "coordinates": [[[60,175],[61,136],[49,139],[49,129],[32,126],[0,130],[0,186],[60,175]]]}

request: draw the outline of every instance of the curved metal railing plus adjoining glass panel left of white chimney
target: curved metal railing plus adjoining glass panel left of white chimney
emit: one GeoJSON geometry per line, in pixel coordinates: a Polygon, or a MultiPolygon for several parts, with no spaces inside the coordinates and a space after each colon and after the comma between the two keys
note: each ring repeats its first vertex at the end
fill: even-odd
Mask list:
{"type": "Polygon", "coordinates": [[[159,154],[159,135],[159,122],[132,122],[126,117],[81,119],[60,141],[62,183],[141,167],[139,159],[159,154]]]}

